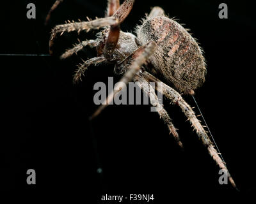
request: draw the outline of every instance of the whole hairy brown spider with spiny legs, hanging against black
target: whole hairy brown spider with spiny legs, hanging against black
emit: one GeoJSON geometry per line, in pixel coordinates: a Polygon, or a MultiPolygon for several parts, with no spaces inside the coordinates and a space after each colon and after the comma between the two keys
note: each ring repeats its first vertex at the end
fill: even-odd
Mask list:
{"type": "MultiPolygon", "coordinates": [[[[52,11],[61,1],[63,0],[57,0],[54,3],[47,16],[47,21],[52,11]]],[[[71,31],[77,31],[77,33],[81,31],[89,32],[91,29],[103,28],[102,31],[97,33],[96,40],[79,41],[79,44],[61,55],[61,59],[66,59],[86,46],[95,47],[97,50],[97,57],[80,64],[74,75],[74,82],[81,79],[81,75],[90,65],[97,65],[102,62],[114,64],[114,72],[117,75],[123,75],[120,80],[120,82],[123,82],[120,89],[123,89],[125,84],[132,80],[136,82],[141,90],[149,96],[150,104],[156,108],[159,116],[170,130],[170,134],[182,147],[177,129],[175,129],[172,119],[159,102],[155,91],[161,92],[173,104],[177,104],[181,108],[209,154],[218,166],[227,172],[228,180],[233,187],[236,187],[226,164],[214,148],[195,112],[181,96],[182,92],[190,95],[195,94],[195,90],[205,82],[206,68],[202,49],[188,33],[188,29],[184,29],[178,22],[168,18],[164,10],[158,6],[152,8],[149,15],[146,15],[146,18],[142,20],[141,25],[137,25],[136,35],[120,31],[120,24],[131,12],[134,1],[125,0],[120,5],[119,0],[108,0],[105,18],[96,18],[95,20],[88,18],[87,22],[81,22],[81,20],[79,22],[68,21],[66,24],[57,25],[51,32],[50,54],[52,54],[54,39],[58,34],[61,35],[71,31]],[[166,83],[161,82],[154,75],[159,75],[166,83]],[[161,86],[153,87],[150,82],[161,83],[161,86]]],[[[120,90],[111,92],[105,100],[106,103],[99,106],[90,119],[99,115],[108,106],[109,102],[113,101],[118,91],[120,90]]]]}

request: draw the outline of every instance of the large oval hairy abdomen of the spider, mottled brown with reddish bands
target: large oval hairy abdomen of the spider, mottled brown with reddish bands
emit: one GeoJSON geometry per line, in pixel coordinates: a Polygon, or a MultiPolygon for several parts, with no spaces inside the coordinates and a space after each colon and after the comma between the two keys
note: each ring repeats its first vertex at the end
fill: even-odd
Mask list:
{"type": "Polygon", "coordinates": [[[205,61],[195,39],[175,20],[149,18],[137,31],[142,44],[156,41],[157,51],[150,57],[154,71],[178,91],[193,94],[205,81],[205,61]]]}

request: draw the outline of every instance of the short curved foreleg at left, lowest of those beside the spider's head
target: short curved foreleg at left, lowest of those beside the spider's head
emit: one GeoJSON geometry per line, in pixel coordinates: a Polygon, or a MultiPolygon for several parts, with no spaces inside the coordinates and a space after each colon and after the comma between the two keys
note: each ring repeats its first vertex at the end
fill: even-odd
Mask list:
{"type": "Polygon", "coordinates": [[[92,59],[88,59],[87,61],[84,61],[84,64],[80,64],[78,66],[78,69],[76,70],[76,73],[74,75],[74,82],[77,82],[79,79],[81,80],[81,75],[84,74],[84,71],[86,71],[88,66],[92,64],[96,66],[104,61],[106,61],[105,57],[93,57],[92,59]]]}

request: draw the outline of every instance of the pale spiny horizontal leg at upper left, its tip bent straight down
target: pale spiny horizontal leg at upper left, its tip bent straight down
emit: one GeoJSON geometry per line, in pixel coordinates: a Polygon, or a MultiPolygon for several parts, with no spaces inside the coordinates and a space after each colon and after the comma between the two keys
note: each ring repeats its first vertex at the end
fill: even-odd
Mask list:
{"type": "Polygon", "coordinates": [[[107,18],[98,18],[96,20],[88,21],[88,22],[69,22],[68,24],[56,25],[51,32],[51,38],[49,41],[49,51],[52,54],[52,46],[54,45],[54,38],[56,38],[57,34],[63,34],[65,32],[80,31],[86,30],[87,32],[90,29],[99,29],[100,27],[105,27],[107,25],[116,25],[119,24],[118,18],[115,17],[107,17],[107,18]]]}

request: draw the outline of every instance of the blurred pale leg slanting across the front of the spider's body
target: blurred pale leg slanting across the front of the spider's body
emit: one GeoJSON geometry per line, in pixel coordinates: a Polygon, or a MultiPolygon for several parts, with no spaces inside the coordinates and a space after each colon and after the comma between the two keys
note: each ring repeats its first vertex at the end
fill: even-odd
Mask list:
{"type": "Polygon", "coordinates": [[[154,41],[150,41],[147,44],[139,47],[131,55],[129,55],[126,60],[122,62],[124,66],[128,67],[128,70],[125,73],[124,77],[122,77],[120,80],[120,89],[113,90],[111,94],[109,94],[108,98],[105,99],[104,103],[102,103],[102,105],[100,105],[96,112],[93,113],[93,115],[90,117],[90,120],[97,117],[97,115],[99,115],[100,112],[102,112],[102,110],[104,110],[104,108],[106,108],[106,106],[108,106],[108,104],[113,101],[113,99],[115,98],[115,94],[120,90],[124,89],[125,85],[133,80],[136,73],[140,71],[141,66],[143,66],[143,64],[147,62],[148,58],[152,54],[154,54],[156,47],[157,44],[154,41]]]}

